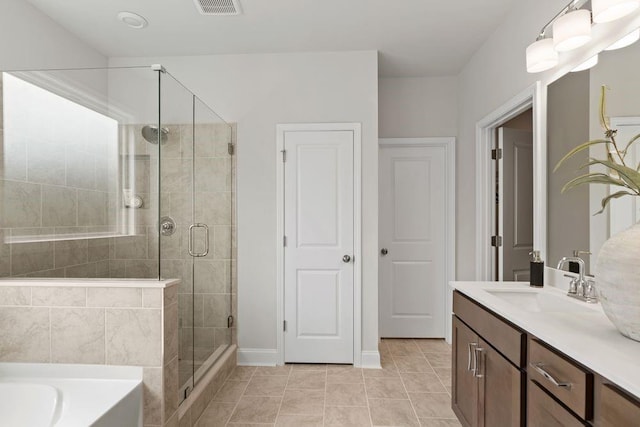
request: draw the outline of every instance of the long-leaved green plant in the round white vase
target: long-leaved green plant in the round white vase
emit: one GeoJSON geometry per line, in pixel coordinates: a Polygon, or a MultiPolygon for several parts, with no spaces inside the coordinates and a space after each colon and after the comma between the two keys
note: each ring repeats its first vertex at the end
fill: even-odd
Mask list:
{"type": "Polygon", "coordinates": [[[599,118],[600,126],[604,131],[604,139],[594,139],[578,145],[571,151],[569,151],[556,165],[553,171],[557,171],[558,168],[570,157],[574,156],[583,150],[589,149],[591,146],[605,144],[607,149],[606,160],[599,160],[590,157],[589,161],[580,166],[578,170],[587,169],[589,172],[580,175],[571,181],[567,182],[562,187],[562,193],[570,190],[578,185],[582,184],[604,184],[612,185],[622,188],[622,190],[609,194],[602,199],[602,209],[596,212],[596,215],[602,213],[609,202],[613,199],[618,199],[624,196],[640,196],[640,164],[627,165],[627,154],[630,148],[635,142],[640,140],[640,134],[634,136],[627,142],[624,148],[621,148],[616,141],[616,129],[609,127],[609,118],[606,116],[606,86],[602,86],[600,90],[600,106],[599,106],[599,118]],[[592,166],[604,166],[606,172],[590,170],[592,166]]]}

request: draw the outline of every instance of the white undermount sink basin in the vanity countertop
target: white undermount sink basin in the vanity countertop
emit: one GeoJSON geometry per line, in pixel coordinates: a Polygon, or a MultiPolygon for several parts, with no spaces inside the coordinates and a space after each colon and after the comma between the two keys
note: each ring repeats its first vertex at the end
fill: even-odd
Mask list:
{"type": "Polygon", "coordinates": [[[532,313],[569,312],[592,313],[586,303],[577,302],[564,295],[554,295],[540,290],[487,290],[487,293],[532,313]],[[582,305],[585,304],[585,305],[582,305]]]}

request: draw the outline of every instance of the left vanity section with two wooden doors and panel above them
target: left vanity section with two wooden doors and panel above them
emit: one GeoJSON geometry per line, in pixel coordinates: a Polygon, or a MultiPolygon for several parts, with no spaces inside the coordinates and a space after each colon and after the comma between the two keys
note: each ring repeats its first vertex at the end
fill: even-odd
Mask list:
{"type": "Polygon", "coordinates": [[[524,425],[524,334],[459,293],[454,313],[452,407],[458,419],[468,427],[524,425]]]}

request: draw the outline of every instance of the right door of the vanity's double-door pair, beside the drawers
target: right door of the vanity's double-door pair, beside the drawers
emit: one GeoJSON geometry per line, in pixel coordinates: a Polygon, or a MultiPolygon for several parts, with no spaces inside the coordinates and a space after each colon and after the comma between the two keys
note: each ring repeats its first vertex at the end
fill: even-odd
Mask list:
{"type": "Polygon", "coordinates": [[[522,387],[525,374],[486,341],[478,343],[480,427],[524,426],[522,387]]]}

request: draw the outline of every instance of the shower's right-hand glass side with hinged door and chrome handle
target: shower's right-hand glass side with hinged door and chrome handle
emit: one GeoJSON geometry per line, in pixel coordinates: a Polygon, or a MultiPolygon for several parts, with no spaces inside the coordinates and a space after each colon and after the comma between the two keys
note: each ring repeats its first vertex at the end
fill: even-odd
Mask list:
{"type": "Polygon", "coordinates": [[[231,127],[169,73],[161,93],[160,123],[147,132],[163,135],[161,274],[182,279],[178,364],[186,397],[231,344],[231,127]]]}

